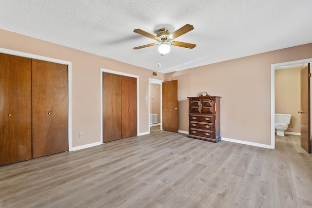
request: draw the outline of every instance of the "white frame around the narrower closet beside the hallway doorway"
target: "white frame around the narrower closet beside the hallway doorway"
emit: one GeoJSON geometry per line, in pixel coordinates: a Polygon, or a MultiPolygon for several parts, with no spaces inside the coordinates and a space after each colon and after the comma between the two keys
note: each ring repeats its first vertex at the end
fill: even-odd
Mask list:
{"type": "Polygon", "coordinates": [[[123,72],[117,72],[117,71],[113,71],[113,70],[109,70],[109,69],[104,69],[104,68],[100,68],[100,144],[104,144],[103,143],[103,72],[106,73],[111,73],[111,74],[115,74],[115,75],[121,75],[121,76],[130,76],[130,77],[134,77],[137,78],[137,135],[139,135],[139,85],[138,85],[138,79],[139,76],[137,75],[132,75],[132,74],[127,74],[127,73],[123,73],[123,72]]]}

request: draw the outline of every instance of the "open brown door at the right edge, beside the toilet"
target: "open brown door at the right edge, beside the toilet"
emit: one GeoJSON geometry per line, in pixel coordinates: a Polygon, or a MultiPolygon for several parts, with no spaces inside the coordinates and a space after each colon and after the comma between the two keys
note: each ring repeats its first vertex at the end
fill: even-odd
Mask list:
{"type": "Polygon", "coordinates": [[[310,63],[301,69],[301,147],[311,153],[311,128],[310,128],[310,63]]]}

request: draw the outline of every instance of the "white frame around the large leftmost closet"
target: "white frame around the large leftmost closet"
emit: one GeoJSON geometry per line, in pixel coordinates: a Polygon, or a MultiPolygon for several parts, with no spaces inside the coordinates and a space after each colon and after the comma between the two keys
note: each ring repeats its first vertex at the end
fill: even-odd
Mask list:
{"type": "Polygon", "coordinates": [[[70,61],[65,61],[65,60],[60,60],[56,58],[51,58],[51,57],[43,57],[35,54],[29,54],[29,53],[24,53],[20,51],[14,51],[14,50],[9,50],[6,48],[0,48],[0,53],[3,54],[9,54],[9,55],[14,55],[14,56],[19,56],[19,57],[26,57],[26,58],[34,58],[38,60],[43,60],[43,61],[49,61],[49,62],[54,62],[54,63],[59,63],[59,64],[65,64],[67,65],[67,76],[68,76],[68,151],[73,151],[72,150],[72,62],[70,61]]]}

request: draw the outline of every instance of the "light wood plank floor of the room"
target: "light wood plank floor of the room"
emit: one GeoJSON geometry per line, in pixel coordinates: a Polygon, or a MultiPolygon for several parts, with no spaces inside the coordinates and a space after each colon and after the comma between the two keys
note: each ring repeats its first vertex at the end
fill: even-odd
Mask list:
{"type": "Polygon", "coordinates": [[[0,167],[5,208],[312,208],[312,155],[150,135],[0,167]]]}

